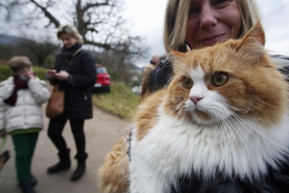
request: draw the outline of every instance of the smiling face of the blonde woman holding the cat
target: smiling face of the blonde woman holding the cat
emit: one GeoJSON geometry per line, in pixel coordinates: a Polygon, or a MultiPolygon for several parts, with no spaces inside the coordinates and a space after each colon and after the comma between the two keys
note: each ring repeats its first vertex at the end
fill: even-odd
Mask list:
{"type": "Polygon", "coordinates": [[[191,0],[186,43],[207,47],[236,38],[241,27],[237,0],[191,0]]]}

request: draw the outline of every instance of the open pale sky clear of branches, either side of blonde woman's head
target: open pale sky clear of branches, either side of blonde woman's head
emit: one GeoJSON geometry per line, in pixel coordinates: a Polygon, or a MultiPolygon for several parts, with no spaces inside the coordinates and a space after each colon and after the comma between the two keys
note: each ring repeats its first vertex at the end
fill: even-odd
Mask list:
{"type": "MultiPolygon", "coordinates": [[[[125,16],[133,18],[132,31],[146,37],[149,55],[164,54],[163,27],[167,0],[126,0],[125,16]]],[[[289,56],[289,0],[257,0],[266,32],[266,48],[274,54],[289,56]]],[[[147,61],[138,61],[139,66],[147,61]]]]}

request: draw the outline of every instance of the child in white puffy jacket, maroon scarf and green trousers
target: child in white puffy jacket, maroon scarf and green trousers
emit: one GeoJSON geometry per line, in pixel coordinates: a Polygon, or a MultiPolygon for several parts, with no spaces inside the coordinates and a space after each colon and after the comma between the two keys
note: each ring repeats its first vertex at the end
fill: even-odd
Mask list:
{"type": "Polygon", "coordinates": [[[31,161],[43,128],[41,104],[50,94],[46,83],[34,76],[26,56],[14,56],[9,65],[13,76],[0,82],[0,135],[12,136],[19,185],[24,193],[33,193],[37,180],[31,174],[31,161]]]}

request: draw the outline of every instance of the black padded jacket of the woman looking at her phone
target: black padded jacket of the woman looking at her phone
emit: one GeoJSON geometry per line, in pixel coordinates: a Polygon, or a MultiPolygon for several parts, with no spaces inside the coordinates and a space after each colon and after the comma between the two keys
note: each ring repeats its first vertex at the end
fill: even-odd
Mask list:
{"type": "Polygon", "coordinates": [[[55,70],[67,71],[70,74],[68,81],[51,81],[52,84],[58,83],[65,91],[64,115],[68,119],[92,118],[91,88],[97,79],[95,60],[85,50],[72,58],[73,53],[80,47],[81,45],[76,44],[71,49],[64,48],[62,53],[56,56],[55,70]]]}

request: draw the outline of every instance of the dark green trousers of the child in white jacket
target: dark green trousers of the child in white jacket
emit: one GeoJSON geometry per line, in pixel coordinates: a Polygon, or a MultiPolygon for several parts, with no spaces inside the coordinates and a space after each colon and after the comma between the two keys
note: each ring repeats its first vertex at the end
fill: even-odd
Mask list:
{"type": "Polygon", "coordinates": [[[38,132],[12,135],[15,148],[15,163],[19,181],[29,179],[31,161],[38,138],[38,132]]]}

